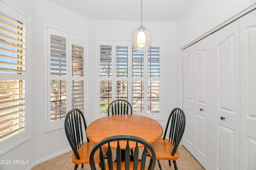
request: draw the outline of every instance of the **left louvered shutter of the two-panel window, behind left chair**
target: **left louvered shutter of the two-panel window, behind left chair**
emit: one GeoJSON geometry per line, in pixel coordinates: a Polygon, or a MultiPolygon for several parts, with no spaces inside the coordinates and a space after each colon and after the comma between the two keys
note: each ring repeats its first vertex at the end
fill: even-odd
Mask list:
{"type": "Polygon", "coordinates": [[[51,121],[66,117],[67,112],[67,39],[58,32],[49,32],[50,35],[50,94],[51,94],[51,121]]]}

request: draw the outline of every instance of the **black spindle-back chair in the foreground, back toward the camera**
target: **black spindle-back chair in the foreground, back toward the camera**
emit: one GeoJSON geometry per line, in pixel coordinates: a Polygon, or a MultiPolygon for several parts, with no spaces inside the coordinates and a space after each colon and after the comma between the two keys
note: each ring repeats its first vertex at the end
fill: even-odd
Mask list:
{"type": "MultiPolygon", "coordinates": [[[[111,143],[113,145],[113,143],[111,143]]],[[[99,143],[95,145],[95,147],[92,149],[92,152],[90,154],[90,167],[91,170],[96,170],[95,167],[95,154],[96,150],[100,148],[100,164],[102,170],[130,170],[130,169],[136,169],[136,170],[146,170],[146,156],[147,156],[147,150],[150,151],[152,158],[150,159],[150,166],[148,167],[149,170],[154,170],[155,164],[156,164],[156,155],[152,148],[152,146],[145,141],[144,139],[141,139],[139,137],[130,136],[130,135],[118,135],[113,137],[108,137],[106,139],[103,139],[99,143]],[[110,147],[110,142],[117,141],[116,143],[116,161],[113,162],[113,154],[112,149],[110,147]],[[130,145],[129,141],[134,141],[135,143],[130,144],[136,146],[134,149],[134,161],[130,161],[130,145]],[[124,142],[124,143],[122,143],[124,142]],[[126,149],[125,149],[125,158],[124,162],[121,161],[121,149],[120,149],[120,143],[125,144],[126,143],[126,149]],[[105,163],[104,153],[102,151],[102,146],[107,144],[108,145],[108,161],[105,163]],[[144,147],[142,154],[139,154],[139,148],[138,146],[141,145],[141,147],[144,147]],[[141,157],[139,155],[142,155],[141,157]]]]}

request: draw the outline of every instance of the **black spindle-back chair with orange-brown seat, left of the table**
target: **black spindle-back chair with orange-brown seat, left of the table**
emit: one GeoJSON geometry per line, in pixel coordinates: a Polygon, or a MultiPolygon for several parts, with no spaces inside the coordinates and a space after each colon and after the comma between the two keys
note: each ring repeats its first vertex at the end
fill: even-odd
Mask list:
{"type": "MultiPolygon", "coordinates": [[[[90,153],[95,144],[90,142],[87,136],[85,136],[87,141],[83,142],[83,134],[85,134],[87,126],[82,111],[80,109],[70,110],[66,115],[64,127],[68,142],[73,150],[72,162],[75,164],[74,170],[78,168],[78,164],[82,164],[83,168],[84,164],[90,163],[90,153]]],[[[104,155],[106,155],[106,151],[107,148],[102,147],[104,155]]],[[[99,163],[99,156],[96,156],[94,160],[99,163]]]]}

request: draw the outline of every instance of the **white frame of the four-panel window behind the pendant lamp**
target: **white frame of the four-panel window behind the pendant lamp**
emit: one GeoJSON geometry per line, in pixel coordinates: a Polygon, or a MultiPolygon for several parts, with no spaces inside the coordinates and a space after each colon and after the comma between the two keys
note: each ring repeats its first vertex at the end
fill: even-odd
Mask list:
{"type": "MultiPolygon", "coordinates": [[[[156,78],[149,78],[148,77],[148,55],[147,52],[144,54],[144,77],[143,78],[132,78],[132,50],[128,49],[128,78],[116,78],[116,45],[128,45],[128,48],[132,47],[132,41],[122,41],[122,40],[101,40],[97,39],[96,40],[96,74],[97,74],[97,79],[96,79],[96,84],[97,84],[97,117],[103,117],[106,116],[105,113],[100,113],[100,80],[111,80],[112,82],[112,100],[116,99],[116,80],[127,80],[128,81],[128,102],[132,104],[132,81],[135,80],[142,80],[144,81],[144,93],[146,92],[148,94],[148,81],[156,80],[156,78]],[[100,46],[104,45],[111,45],[112,46],[112,57],[115,55],[115,57],[112,58],[112,77],[111,78],[100,78],[100,46]],[[146,72],[145,72],[146,70],[146,72]],[[130,95],[129,95],[130,94],[130,95]]],[[[163,70],[163,57],[162,57],[162,41],[152,41],[151,43],[152,46],[159,46],[160,51],[159,51],[159,57],[160,57],[160,77],[157,78],[160,82],[160,88],[159,88],[159,93],[160,93],[160,99],[159,99],[159,113],[148,113],[148,110],[144,109],[144,113],[133,113],[137,115],[144,115],[151,117],[153,119],[163,119],[163,114],[162,114],[162,86],[163,86],[163,80],[162,80],[162,70],[163,70]]],[[[144,97],[144,108],[147,107],[148,105],[148,98],[144,97]]]]}

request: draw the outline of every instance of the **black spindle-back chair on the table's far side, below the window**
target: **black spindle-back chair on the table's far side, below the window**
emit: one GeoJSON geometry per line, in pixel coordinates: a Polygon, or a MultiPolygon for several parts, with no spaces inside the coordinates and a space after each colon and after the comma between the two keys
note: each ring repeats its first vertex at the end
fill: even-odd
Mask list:
{"type": "Polygon", "coordinates": [[[126,100],[114,100],[108,105],[108,116],[109,112],[112,112],[112,115],[132,114],[132,106],[126,100]]]}

